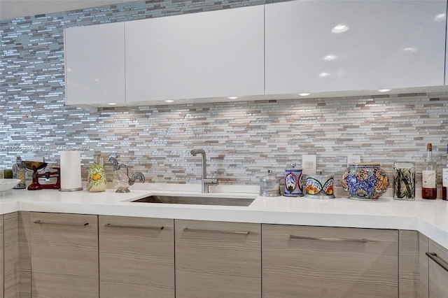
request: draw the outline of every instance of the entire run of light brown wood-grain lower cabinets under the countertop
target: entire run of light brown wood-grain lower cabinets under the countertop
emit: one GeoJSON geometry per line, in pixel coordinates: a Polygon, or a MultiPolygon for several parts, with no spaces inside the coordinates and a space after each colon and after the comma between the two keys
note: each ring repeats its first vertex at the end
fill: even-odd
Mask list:
{"type": "Polygon", "coordinates": [[[0,298],[448,298],[448,250],[387,229],[16,212],[0,269],[0,298]]]}

